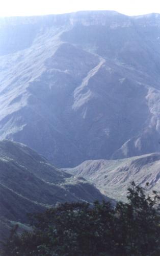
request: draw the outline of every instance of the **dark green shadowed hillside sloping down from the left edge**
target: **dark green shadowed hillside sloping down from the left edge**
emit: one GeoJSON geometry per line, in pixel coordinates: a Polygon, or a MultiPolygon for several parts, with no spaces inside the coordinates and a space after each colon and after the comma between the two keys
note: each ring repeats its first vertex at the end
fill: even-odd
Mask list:
{"type": "Polygon", "coordinates": [[[4,232],[27,213],[44,211],[64,202],[93,202],[109,198],[83,178],[76,178],[51,165],[24,144],[0,142],[0,229],[4,232]]]}

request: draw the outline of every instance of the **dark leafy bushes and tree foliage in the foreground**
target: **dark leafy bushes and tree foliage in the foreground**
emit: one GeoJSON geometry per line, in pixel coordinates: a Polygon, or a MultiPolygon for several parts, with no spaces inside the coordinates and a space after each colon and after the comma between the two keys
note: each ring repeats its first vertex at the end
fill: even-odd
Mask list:
{"type": "Polygon", "coordinates": [[[133,182],[128,203],[65,203],[30,215],[34,229],[10,237],[3,255],[160,255],[159,197],[133,182]]]}

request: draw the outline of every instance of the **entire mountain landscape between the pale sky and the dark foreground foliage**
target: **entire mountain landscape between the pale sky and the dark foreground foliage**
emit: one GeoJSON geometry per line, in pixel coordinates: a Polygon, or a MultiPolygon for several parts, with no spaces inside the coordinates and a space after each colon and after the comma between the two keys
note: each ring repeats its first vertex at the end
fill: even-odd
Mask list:
{"type": "Polygon", "coordinates": [[[29,212],[159,190],[159,83],[160,14],[1,17],[0,239],[29,212]]]}

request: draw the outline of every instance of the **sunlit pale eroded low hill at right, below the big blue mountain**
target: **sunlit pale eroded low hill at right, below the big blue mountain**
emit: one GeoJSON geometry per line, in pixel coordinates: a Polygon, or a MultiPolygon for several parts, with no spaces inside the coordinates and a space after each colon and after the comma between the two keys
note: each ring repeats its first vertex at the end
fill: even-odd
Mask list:
{"type": "Polygon", "coordinates": [[[95,184],[102,194],[116,200],[126,200],[127,188],[134,181],[148,194],[160,191],[160,154],[152,153],[118,160],[90,160],[68,168],[67,172],[84,177],[95,184]],[[149,183],[146,186],[146,183],[149,183]]]}

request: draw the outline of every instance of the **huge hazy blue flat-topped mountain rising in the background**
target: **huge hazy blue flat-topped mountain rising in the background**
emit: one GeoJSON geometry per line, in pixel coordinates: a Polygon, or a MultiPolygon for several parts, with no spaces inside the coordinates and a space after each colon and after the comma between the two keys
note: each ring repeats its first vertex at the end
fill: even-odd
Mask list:
{"type": "Polygon", "coordinates": [[[159,152],[159,25],[114,11],[1,18],[0,139],[60,167],[159,152]]]}

